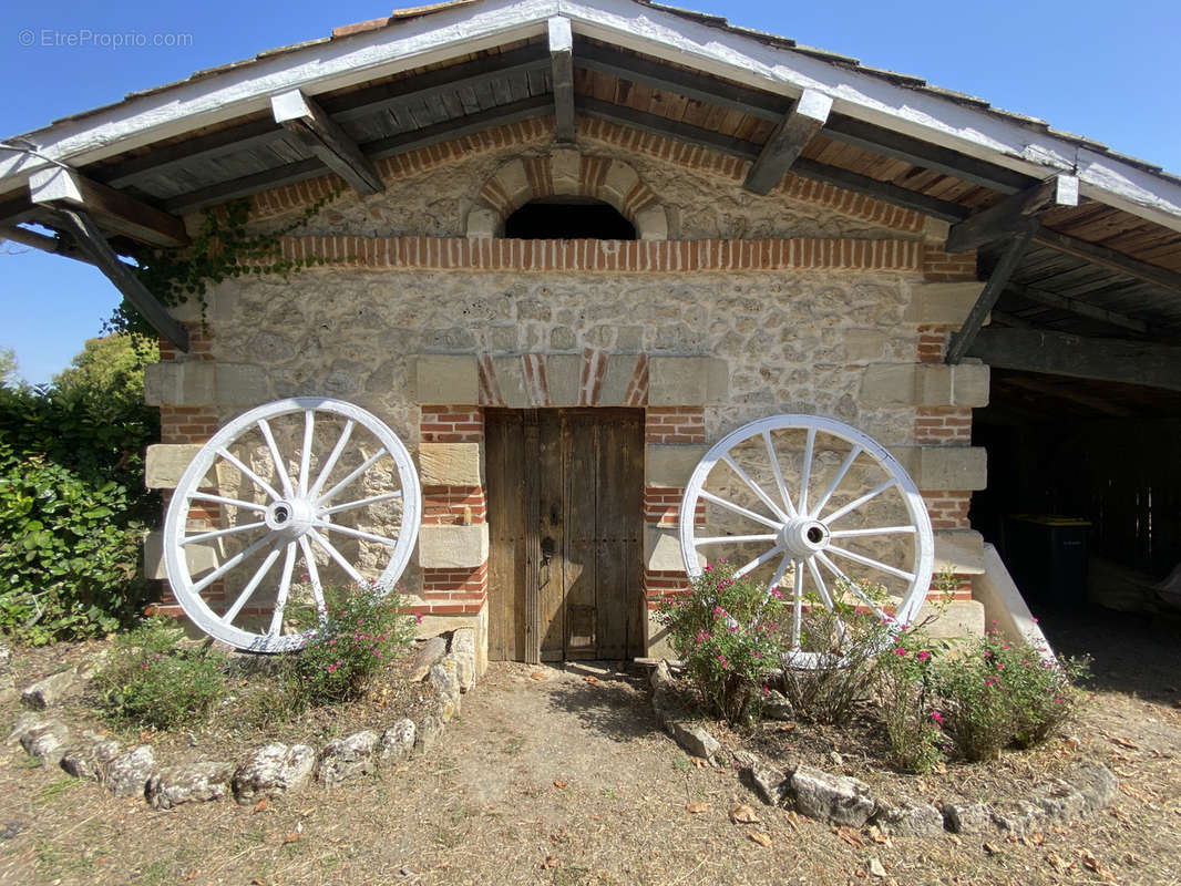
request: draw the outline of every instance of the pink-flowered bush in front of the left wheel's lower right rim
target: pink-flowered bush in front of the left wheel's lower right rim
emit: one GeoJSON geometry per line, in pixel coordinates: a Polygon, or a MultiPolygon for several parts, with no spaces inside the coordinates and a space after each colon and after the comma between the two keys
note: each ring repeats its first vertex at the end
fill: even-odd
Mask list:
{"type": "MultiPolygon", "coordinates": [[[[306,587],[293,595],[306,601],[306,587]],[[302,591],[302,593],[300,593],[302,591]]],[[[386,597],[357,586],[326,586],[326,619],[308,631],[304,649],[292,656],[283,683],[295,710],[360,698],[392,660],[415,639],[415,617],[402,613],[400,593],[386,597]]],[[[304,619],[315,623],[314,605],[304,604],[304,619]]],[[[299,619],[300,613],[289,610],[299,619]]]]}

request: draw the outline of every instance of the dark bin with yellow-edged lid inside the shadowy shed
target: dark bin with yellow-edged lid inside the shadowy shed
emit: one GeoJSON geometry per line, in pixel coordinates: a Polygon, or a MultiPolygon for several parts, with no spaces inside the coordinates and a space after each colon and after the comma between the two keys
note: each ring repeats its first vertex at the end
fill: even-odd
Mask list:
{"type": "Polygon", "coordinates": [[[1053,514],[1005,517],[1005,566],[1025,597],[1055,606],[1087,601],[1087,536],[1091,525],[1053,514]]]}

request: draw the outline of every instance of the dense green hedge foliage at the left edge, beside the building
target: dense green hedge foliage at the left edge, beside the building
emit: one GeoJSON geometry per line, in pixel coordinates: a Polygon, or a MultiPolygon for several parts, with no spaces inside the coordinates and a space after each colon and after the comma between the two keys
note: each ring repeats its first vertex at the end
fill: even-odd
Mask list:
{"type": "Polygon", "coordinates": [[[143,487],[159,419],[143,405],[151,343],[86,343],[46,389],[0,387],[0,630],[28,643],[103,633],[136,613],[143,487]]]}

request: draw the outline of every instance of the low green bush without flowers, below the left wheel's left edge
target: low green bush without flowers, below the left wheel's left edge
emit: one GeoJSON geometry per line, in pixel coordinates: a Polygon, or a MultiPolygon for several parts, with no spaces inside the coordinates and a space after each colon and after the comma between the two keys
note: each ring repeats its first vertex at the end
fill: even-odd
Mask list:
{"type": "Polygon", "coordinates": [[[182,644],[184,631],[164,617],[144,619],[120,636],[94,678],[106,712],[154,729],[202,722],[227,691],[224,653],[182,644]]]}

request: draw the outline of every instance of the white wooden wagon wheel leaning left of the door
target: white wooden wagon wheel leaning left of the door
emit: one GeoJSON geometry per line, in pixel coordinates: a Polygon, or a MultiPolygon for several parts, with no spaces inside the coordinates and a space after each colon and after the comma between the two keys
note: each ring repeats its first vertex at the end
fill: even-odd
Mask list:
{"type": "Polygon", "coordinates": [[[296,598],[322,624],[328,584],[387,594],[420,513],[410,454],[381,421],[342,400],[276,400],[231,421],[189,464],[164,521],[164,565],[185,614],[210,636],[255,652],[296,650],[313,630],[289,624],[296,598]],[[209,599],[218,586],[224,599],[209,599]]]}

